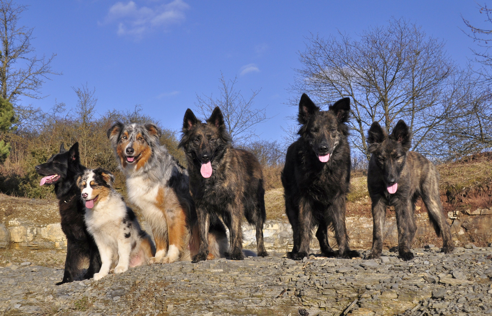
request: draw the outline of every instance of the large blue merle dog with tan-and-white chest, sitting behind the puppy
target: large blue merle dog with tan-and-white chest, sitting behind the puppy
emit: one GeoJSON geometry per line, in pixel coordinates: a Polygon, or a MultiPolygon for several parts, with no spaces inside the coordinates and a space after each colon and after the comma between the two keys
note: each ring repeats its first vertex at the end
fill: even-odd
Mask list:
{"type": "MultiPolygon", "coordinates": [[[[117,122],[108,130],[126,175],[128,197],[152,228],[156,252],[151,263],[191,260],[198,253],[199,237],[189,178],[184,167],[160,145],[160,135],[151,123],[117,122]]],[[[214,222],[209,231],[209,258],[221,258],[227,251],[225,227],[214,222]]]]}

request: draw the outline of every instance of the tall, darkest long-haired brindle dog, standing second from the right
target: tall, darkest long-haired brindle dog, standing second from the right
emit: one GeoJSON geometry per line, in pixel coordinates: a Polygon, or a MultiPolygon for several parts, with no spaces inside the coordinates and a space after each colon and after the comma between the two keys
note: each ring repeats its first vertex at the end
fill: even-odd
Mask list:
{"type": "Polygon", "coordinates": [[[350,182],[348,127],[350,99],[320,108],[303,94],[299,102],[299,139],[289,146],[281,175],[285,209],[294,232],[289,258],[303,259],[309,254],[311,230],[324,256],[360,257],[350,250],[345,228],[345,199],[350,182]],[[328,228],[335,231],[338,252],[328,243],[328,228]]]}

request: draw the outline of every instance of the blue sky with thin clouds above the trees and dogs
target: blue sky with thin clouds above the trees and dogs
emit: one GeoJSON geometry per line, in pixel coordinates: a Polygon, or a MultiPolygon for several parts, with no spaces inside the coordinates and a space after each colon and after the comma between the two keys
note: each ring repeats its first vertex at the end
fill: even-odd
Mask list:
{"type": "MultiPolygon", "coordinates": [[[[76,103],[72,86],[95,87],[97,112],[143,106],[164,127],[181,128],[196,94],[218,94],[218,78],[238,76],[245,96],[261,89],[255,106],[267,106],[261,138],[280,140],[296,108],[286,105],[300,68],[297,53],[310,32],[356,34],[404,17],[446,43],[464,65],[472,57],[461,16],[484,25],[473,0],[457,1],[192,1],[26,0],[21,23],[34,27],[38,55],[57,53],[43,100],[24,104],[48,110],[55,100],[76,103]]],[[[335,101],[335,100],[334,100],[335,101]]]]}

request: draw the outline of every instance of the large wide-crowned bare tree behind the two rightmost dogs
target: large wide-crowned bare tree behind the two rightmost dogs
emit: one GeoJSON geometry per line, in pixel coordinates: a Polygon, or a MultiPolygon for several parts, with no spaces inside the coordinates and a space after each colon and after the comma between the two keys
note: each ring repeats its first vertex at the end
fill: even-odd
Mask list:
{"type": "Polygon", "coordinates": [[[443,122],[440,96],[455,69],[442,42],[404,19],[369,27],[356,40],[342,33],[307,40],[296,95],[307,92],[321,104],[350,97],[351,140],[368,159],[366,133],[374,121],[390,131],[404,119],[414,150],[426,151],[432,129],[443,122]]]}

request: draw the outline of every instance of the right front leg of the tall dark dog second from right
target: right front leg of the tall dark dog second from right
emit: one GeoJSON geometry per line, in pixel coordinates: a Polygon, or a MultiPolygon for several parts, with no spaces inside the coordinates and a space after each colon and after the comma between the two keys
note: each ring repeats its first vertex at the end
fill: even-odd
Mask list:
{"type": "Polygon", "coordinates": [[[327,214],[331,215],[335,238],[338,243],[338,256],[341,258],[360,257],[357,250],[350,250],[348,246],[348,234],[345,226],[345,196],[339,195],[328,206],[327,214]]]}

